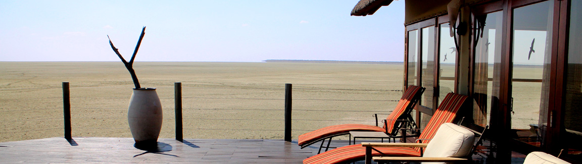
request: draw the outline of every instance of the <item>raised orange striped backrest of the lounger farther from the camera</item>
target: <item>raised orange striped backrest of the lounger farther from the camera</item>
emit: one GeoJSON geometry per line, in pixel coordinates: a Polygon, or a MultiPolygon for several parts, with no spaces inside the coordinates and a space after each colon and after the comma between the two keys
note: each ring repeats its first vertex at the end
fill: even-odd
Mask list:
{"type": "MultiPolygon", "coordinates": [[[[390,133],[390,134],[395,134],[394,132],[392,132],[393,130],[398,130],[394,128],[394,123],[396,123],[396,120],[398,119],[403,119],[402,115],[404,114],[404,112],[407,110],[407,107],[409,107],[409,104],[411,103],[411,100],[414,99],[414,95],[416,95],[416,93],[418,92],[418,90],[420,90],[420,86],[408,86],[408,89],[406,90],[406,92],[404,92],[404,94],[402,95],[402,98],[400,98],[400,101],[398,101],[398,104],[396,105],[396,108],[394,108],[394,111],[392,111],[392,113],[390,115],[388,115],[388,118],[386,118],[386,125],[388,125],[388,129],[386,130],[386,132],[390,133]]],[[[418,97],[420,97],[420,95],[418,95],[418,97]]],[[[409,108],[413,108],[413,107],[409,107],[409,108]]],[[[384,125],[384,126],[386,126],[384,125]]],[[[386,128],[386,127],[384,127],[386,128]]]]}

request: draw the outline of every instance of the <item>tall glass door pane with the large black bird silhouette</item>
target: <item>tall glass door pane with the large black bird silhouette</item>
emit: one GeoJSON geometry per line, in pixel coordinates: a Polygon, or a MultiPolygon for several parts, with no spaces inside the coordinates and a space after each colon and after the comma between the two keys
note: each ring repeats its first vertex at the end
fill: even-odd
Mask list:
{"type": "Polygon", "coordinates": [[[514,138],[540,146],[548,116],[553,1],[513,10],[511,127],[514,138]]]}

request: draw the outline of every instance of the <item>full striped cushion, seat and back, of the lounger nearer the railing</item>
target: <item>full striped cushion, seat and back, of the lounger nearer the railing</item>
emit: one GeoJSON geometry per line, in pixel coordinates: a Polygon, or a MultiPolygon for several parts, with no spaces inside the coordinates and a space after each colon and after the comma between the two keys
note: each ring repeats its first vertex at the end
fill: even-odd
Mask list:
{"type": "MultiPolygon", "coordinates": [[[[396,105],[396,108],[394,109],[394,111],[392,111],[392,113],[390,115],[388,115],[388,118],[386,118],[386,121],[388,122],[387,125],[388,126],[388,132],[392,132],[392,128],[394,123],[396,122],[396,119],[399,119],[399,117],[404,113],[404,111],[406,111],[406,107],[409,106],[410,104],[410,100],[412,100],[414,98],[414,95],[418,92],[418,90],[420,90],[421,87],[419,86],[409,86],[409,88],[406,90],[406,93],[404,93],[402,95],[402,98],[400,98],[400,101],[398,102],[398,105],[396,105]],[[391,121],[390,121],[391,120],[391,121]]],[[[420,97],[420,96],[419,96],[420,97]]],[[[313,132],[309,132],[309,133],[305,133],[305,134],[301,134],[299,136],[299,141],[298,144],[299,145],[304,145],[304,144],[308,144],[320,139],[325,139],[329,136],[333,136],[335,134],[342,134],[342,133],[349,133],[350,131],[372,131],[372,132],[386,132],[386,130],[382,127],[378,127],[378,126],[372,126],[372,125],[363,125],[363,124],[342,124],[342,125],[332,125],[332,126],[328,126],[328,127],[323,127],[321,129],[317,129],[314,130],[313,132]]]]}

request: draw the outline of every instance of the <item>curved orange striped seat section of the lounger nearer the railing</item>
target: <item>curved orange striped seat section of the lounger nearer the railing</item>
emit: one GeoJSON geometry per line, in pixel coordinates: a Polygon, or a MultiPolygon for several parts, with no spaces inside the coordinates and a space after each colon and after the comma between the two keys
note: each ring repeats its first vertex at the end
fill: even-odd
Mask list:
{"type": "Polygon", "coordinates": [[[363,125],[363,124],[342,124],[342,125],[332,125],[324,127],[321,129],[314,130],[313,132],[301,134],[299,136],[299,145],[311,143],[312,141],[332,136],[333,134],[347,133],[350,131],[375,131],[384,132],[382,127],[374,125],[363,125]]]}

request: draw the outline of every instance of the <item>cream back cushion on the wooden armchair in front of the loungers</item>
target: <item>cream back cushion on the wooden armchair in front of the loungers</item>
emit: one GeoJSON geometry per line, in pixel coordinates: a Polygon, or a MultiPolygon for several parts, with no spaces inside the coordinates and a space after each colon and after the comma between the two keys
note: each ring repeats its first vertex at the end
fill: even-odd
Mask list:
{"type": "Polygon", "coordinates": [[[428,143],[423,156],[464,157],[471,152],[474,141],[475,134],[470,130],[453,123],[443,123],[437,130],[437,134],[428,143]]]}

